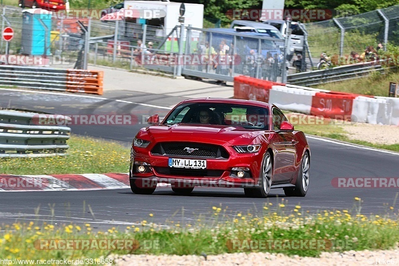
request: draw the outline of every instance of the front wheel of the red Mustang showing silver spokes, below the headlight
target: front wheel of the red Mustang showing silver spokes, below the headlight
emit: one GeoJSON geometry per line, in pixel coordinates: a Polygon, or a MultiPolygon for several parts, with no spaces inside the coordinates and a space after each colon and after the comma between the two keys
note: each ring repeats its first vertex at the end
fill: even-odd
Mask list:
{"type": "Polygon", "coordinates": [[[246,197],[249,198],[266,198],[269,196],[271,183],[273,181],[273,162],[269,152],[263,157],[259,171],[260,188],[244,188],[246,197]]]}

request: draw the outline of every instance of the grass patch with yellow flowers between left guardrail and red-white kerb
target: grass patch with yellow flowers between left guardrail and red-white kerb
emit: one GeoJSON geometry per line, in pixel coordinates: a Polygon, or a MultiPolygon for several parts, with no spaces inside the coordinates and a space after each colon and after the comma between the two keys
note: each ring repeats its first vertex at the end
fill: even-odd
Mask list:
{"type": "Polygon", "coordinates": [[[71,135],[67,156],[0,159],[0,173],[12,175],[127,173],[130,150],[122,145],[71,135]]]}

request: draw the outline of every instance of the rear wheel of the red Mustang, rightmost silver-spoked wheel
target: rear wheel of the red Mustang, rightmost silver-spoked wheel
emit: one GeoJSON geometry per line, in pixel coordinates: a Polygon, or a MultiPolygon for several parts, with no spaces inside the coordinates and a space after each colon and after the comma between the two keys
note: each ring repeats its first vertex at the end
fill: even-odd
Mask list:
{"type": "Polygon", "coordinates": [[[309,188],[310,177],[310,155],[305,152],[301,161],[301,169],[299,170],[298,177],[295,182],[295,188],[284,189],[284,194],[287,197],[305,197],[309,188]]]}

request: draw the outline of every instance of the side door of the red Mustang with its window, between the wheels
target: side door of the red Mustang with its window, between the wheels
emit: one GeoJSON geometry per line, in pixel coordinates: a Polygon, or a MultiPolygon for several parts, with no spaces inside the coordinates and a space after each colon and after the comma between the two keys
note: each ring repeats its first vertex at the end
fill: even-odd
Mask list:
{"type": "Polygon", "coordinates": [[[292,131],[280,130],[282,121],[287,121],[285,115],[277,108],[272,108],[272,126],[275,132],[272,139],[274,150],[274,176],[275,182],[291,180],[294,177],[296,141],[292,131]]]}

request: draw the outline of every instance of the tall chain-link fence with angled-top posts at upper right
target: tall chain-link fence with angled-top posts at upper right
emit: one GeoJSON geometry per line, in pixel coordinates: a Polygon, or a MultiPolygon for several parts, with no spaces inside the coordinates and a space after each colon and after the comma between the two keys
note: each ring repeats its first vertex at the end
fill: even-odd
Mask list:
{"type": "Polygon", "coordinates": [[[358,15],[303,24],[309,34],[311,54],[319,56],[363,53],[367,46],[379,43],[399,45],[399,5],[358,15]]]}

